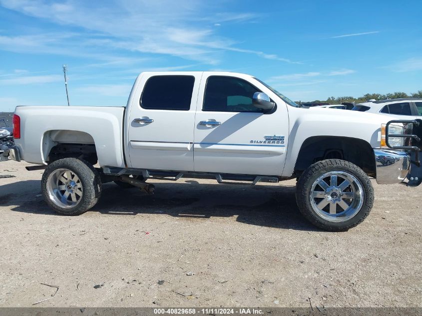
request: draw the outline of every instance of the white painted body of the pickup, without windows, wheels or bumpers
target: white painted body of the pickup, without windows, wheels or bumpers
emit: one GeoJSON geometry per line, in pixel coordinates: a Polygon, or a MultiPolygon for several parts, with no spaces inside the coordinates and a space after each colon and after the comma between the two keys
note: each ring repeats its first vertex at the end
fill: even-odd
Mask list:
{"type": "Polygon", "coordinates": [[[357,138],[377,148],[380,147],[381,124],[389,121],[388,117],[376,114],[295,108],[254,77],[231,72],[183,72],[195,77],[188,111],[140,107],[139,99],[150,77],[178,74],[180,72],[140,74],[130,93],[126,112],[123,107],[16,107],[22,136],[15,143],[21,159],[47,164],[48,153],[57,143],[93,143],[101,167],[290,177],[300,148],[309,137],[357,138]],[[275,101],[277,111],[272,114],[202,111],[206,79],[213,75],[250,82],[275,101]],[[133,122],[142,117],[154,122],[133,122]],[[221,125],[199,125],[203,120],[215,120],[221,125]],[[265,142],[264,136],[273,135],[284,137],[284,143],[265,142]]]}

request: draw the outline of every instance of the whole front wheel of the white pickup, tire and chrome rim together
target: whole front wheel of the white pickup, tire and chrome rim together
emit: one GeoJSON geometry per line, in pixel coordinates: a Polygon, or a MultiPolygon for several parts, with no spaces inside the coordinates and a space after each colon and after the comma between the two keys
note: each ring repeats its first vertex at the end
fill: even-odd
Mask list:
{"type": "Polygon", "coordinates": [[[311,165],[297,183],[300,212],[315,226],[347,231],[361,223],[374,204],[374,188],[355,164],[327,159],[311,165]]]}

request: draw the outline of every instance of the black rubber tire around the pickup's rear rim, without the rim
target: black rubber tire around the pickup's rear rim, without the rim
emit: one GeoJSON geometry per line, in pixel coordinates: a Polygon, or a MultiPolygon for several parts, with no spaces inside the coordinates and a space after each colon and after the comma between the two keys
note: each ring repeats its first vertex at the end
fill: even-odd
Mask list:
{"type": "Polygon", "coordinates": [[[41,179],[41,191],[45,202],[62,215],[80,215],[92,208],[101,196],[101,178],[97,170],[87,161],[76,158],[59,159],[45,169],[41,179]],[[61,208],[51,201],[47,192],[48,176],[57,169],[68,169],[75,173],[82,184],[83,192],[81,201],[71,208],[61,208]]]}

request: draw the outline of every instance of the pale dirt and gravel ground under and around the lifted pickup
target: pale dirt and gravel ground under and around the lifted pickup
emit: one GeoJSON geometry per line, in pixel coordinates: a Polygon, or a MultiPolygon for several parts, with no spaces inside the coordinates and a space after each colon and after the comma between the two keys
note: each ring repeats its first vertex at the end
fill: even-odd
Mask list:
{"type": "Polygon", "coordinates": [[[329,233],[301,217],[293,180],[151,181],[153,197],[109,183],[65,217],[26,165],[0,165],[16,176],[0,179],[0,306],[50,298],[41,283],[59,290],[38,307],[422,306],[422,187],[373,181],[370,216],[329,233]]]}

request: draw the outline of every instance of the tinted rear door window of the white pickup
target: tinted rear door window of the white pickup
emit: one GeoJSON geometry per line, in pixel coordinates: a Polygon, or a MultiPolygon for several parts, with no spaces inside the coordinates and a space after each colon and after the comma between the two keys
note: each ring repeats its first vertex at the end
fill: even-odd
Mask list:
{"type": "Polygon", "coordinates": [[[189,110],[194,81],[192,76],[153,76],[145,84],[140,105],[144,109],[189,110]]]}

